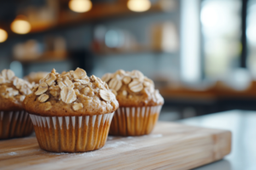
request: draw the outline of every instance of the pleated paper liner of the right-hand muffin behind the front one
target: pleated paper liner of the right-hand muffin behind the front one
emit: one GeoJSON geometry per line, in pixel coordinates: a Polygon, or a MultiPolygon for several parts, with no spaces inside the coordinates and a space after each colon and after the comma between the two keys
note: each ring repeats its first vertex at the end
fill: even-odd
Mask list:
{"type": "Polygon", "coordinates": [[[151,133],[162,105],[151,107],[119,107],[113,116],[110,135],[138,136],[151,133]]]}

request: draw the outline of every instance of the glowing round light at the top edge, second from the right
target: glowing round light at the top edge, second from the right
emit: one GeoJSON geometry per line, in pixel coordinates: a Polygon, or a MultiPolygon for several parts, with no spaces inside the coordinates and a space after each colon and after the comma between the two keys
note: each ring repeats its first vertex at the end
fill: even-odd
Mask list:
{"type": "Polygon", "coordinates": [[[71,0],[68,3],[71,10],[77,13],[85,13],[90,10],[92,4],[90,0],[71,0]]]}

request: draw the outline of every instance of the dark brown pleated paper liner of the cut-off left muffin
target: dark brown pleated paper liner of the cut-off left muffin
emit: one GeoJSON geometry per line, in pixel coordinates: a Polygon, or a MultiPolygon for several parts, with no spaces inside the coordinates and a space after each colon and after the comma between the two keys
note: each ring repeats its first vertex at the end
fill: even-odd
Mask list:
{"type": "Polygon", "coordinates": [[[32,121],[26,111],[0,111],[0,139],[24,137],[32,131],[32,121]]]}

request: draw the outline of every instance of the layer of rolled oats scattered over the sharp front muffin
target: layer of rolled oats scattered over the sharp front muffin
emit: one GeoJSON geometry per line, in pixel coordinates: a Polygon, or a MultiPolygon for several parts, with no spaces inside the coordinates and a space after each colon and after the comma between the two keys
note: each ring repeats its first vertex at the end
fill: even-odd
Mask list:
{"type": "MultiPolygon", "coordinates": [[[[63,105],[70,105],[73,111],[86,110],[90,104],[97,107],[107,105],[111,107],[108,110],[118,107],[115,95],[106,82],[95,76],[88,77],[80,68],[61,74],[53,69],[47,77],[40,80],[40,84],[34,89],[34,95],[42,104],[47,102],[53,106],[56,102],[62,102],[63,105]],[[84,108],[84,105],[87,107],[84,108]]],[[[51,107],[47,107],[48,110],[49,108],[51,107]]]]}

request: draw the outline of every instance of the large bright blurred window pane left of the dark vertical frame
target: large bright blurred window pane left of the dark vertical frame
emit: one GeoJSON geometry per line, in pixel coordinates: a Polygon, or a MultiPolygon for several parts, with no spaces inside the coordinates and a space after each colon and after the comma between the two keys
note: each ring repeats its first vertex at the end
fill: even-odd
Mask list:
{"type": "Polygon", "coordinates": [[[201,26],[205,76],[218,79],[239,66],[241,1],[203,1],[201,26]]]}

